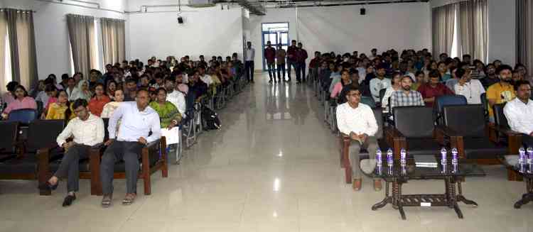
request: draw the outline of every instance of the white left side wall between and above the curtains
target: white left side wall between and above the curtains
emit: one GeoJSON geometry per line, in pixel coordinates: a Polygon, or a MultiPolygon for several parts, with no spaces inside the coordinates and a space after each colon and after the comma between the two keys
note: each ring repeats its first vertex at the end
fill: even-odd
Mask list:
{"type": "MultiPolygon", "coordinates": [[[[124,11],[126,0],[90,0],[101,4],[104,9],[124,11]]],[[[65,0],[65,2],[69,2],[65,0]]],[[[70,2],[72,3],[72,2],[70,2]]],[[[50,73],[60,76],[71,73],[70,53],[66,14],[75,13],[86,16],[125,18],[126,15],[112,11],[87,9],[79,6],[67,6],[35,0],[4,1],[3,7],[14,9],[32,9],[33,26],[36,36],[37,68],[39,79],[50,73]]]]}

